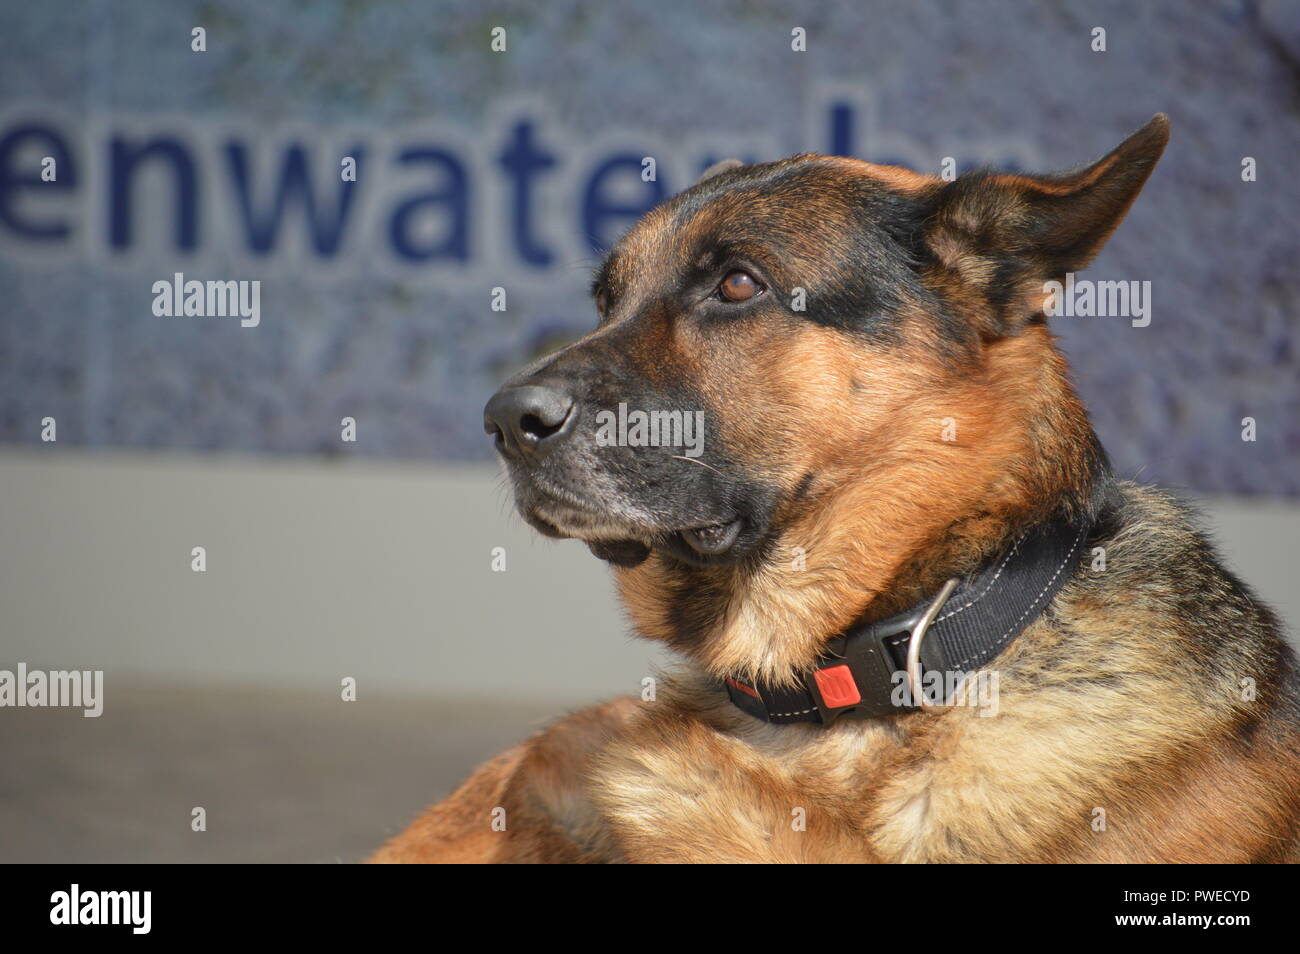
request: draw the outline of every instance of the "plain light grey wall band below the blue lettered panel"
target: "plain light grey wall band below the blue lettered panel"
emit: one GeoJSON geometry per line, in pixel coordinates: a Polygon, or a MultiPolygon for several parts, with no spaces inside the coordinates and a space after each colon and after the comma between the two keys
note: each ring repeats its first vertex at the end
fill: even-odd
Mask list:
{"type": "MultiPolygon", "coordinates": [[[[533,533],[490,468],[9,451],[0,487],[0,668],[581,702],[636,691],[658,658],[603,564],[533,533]]],[[[1208,511],[1300,619],[1300,508],[1208,511]]]]}

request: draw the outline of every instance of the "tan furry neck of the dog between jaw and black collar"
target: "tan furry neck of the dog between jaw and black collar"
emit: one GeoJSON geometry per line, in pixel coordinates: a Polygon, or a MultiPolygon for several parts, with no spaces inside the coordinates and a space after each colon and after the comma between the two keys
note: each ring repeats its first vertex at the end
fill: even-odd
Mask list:
{"type": "Polygon", "coordinates": [[[690,568],[655,552],[618,571],[640,633],[715,676],[789,682],[854,621],[916,603],[1053,513],[1087,509],[1105,455],[1063,359],[1041,328],[993,347],[968,394],[958,383],[944,399],[963,408],[958,441],[863,448],[867,464],[779,515],[760,560],[690,568]]]}

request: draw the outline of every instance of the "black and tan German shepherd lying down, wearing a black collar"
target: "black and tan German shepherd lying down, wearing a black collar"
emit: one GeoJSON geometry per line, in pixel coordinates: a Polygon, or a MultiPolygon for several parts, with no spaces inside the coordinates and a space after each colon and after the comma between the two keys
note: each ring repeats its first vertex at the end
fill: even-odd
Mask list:
{"type": "Polygon", "coordinates": [[[525,520],[607,560],[680,667],[372,860],[1296,860],[1278,620],[1112,474],[1045,320],[1167,139],[950,182],[728,161],[649,212],[597,329],[486,428],[525,520]],[[619,404],[702,412],[703,452],[601,439],[619,404]]]}

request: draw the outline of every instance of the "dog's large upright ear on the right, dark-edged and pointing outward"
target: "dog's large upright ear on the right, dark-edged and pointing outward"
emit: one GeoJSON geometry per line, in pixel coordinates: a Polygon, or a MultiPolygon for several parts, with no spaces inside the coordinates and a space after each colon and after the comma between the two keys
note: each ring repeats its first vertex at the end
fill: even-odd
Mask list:
{"type": "Polygon", "coordinates": [[[1096,162],[1061,175],[972,172],[944,186],[926,229],[939,268],[992,305],[989,334],[1043,312],[1044,283],[1082,269],[1141,191],[1169,142],[1157,114],[1096,162]]]}

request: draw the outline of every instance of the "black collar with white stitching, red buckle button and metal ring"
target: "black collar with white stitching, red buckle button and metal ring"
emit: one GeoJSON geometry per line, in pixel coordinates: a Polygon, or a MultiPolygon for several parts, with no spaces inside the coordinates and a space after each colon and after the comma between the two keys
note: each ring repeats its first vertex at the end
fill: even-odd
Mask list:
{"type": "Polygon", "coordinates": [[[727,693],[745,712],[777,724],[829,725],[841,715],[872,719],[914,711],[918,702],[941,704],[944,688],[991,663],[1046,608],[1074,574],[1088,529],[1087,520],[1045,522],[936,597],[835,637],[798,685],[727,678],[727,693]]]}

